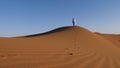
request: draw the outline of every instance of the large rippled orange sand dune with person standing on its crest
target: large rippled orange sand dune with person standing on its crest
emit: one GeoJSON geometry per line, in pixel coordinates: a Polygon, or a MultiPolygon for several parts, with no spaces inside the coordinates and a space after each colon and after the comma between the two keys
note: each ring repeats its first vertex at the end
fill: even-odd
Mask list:
{"type": "Polygon", "coordinates": [[[79,26],[0,38],[0,68],[120,68],[119,44],[112,39],[79,26]]]}

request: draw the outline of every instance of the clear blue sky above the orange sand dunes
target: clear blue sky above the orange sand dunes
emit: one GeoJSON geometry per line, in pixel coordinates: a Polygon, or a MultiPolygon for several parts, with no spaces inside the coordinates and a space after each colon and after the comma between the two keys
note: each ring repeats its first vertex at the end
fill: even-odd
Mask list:
{"type": "Polygon", "coordinates": [[[120,0],[0,0],[0,37],[46,32],[77,25],[120,34],[120,0]]]}

